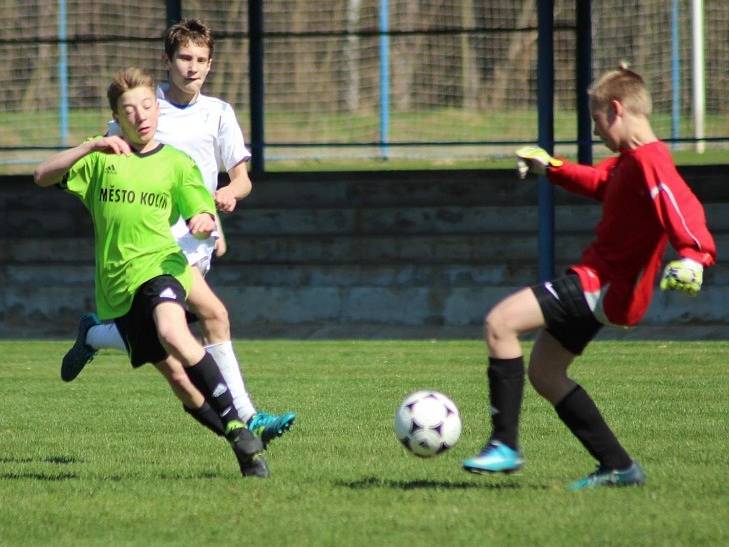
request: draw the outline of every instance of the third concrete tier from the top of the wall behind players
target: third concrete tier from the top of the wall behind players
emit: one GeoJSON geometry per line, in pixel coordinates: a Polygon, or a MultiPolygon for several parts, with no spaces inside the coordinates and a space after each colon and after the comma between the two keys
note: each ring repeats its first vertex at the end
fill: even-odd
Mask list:
{"type": "MultiPolygon", "coordinates": [[[[578,260],[592,235],[560,234],[555,260],[578,260]]],[[[729,233],[716,237],[719,256],[729,256],[729,233]]],[[[92,264],[89,238],[21,238],[4,240],[0,260],[5,264],[92,264]]],[[[520,264],[537,262],[534,234],[447,234],[402,236],[261,236],[231,237],[228,264],[520,264]]]]}

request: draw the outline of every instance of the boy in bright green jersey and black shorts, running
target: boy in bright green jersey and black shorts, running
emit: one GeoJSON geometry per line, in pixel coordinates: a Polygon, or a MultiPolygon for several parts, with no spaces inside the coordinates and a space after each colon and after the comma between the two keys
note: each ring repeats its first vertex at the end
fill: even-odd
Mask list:
{"type": "Polygon", "coordinates": [[[107,96],[123,138],[97,138],[51,156],[36,168],[35,182],[59,185],[89,210],[97,313],[115,321],[132,366],[154,363],[163,372],[182,365],[197,390],[173,389],[176,395],[188,408],[212,407],[243,475],[268,476],[261,440],[238,419],[214,358],[185,317],[185,300],[207,288],[193,282],[170,222],[182,217],[193,235],[207,238],[216,228],[215,204],[195,162],[154,139],[159,105],[152,78],[125,69],[107,96]]]}

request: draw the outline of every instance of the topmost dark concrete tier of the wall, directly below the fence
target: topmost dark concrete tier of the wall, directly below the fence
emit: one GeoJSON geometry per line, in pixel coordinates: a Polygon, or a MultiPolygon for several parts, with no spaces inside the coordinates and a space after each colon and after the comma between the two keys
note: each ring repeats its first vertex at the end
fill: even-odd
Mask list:
{"type": "MultiPolygon", "coordinates": [[[[729,201],[724,169],[685,166],[680,172],[704,203],[729,201]]],[[[0,210],[54,210],[56,189],[41,189],[32,177],[0,177],[0,210]]],[[[65,199],[80,202],[71,196],[65,199]]],[[[585,199],[555,189],[557,203],[585,199]]],[[[252,208],[339,208],[407,206],[511,206],[537,203],[535,178],[520,182],[513,170],[267,173],[254,177],[245,200],[252,208]]]]}

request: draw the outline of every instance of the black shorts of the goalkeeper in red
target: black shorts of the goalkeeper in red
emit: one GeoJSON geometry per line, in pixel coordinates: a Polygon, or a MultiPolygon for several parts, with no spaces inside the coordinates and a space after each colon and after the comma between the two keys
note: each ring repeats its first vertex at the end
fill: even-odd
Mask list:
{"type": "Polygon", "coordinates": [[[567,351],[580,355],[602,328],[582,292],[576,273],[534,285],[532,291],[542,309],[546,330],[567,351]]]}

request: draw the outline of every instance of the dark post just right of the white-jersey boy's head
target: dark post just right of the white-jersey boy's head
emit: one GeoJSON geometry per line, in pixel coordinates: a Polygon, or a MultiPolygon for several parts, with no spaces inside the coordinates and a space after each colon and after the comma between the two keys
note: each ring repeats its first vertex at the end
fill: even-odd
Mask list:
{"type": "Polygon", "coordinates": [[[251,170],[254,174],[265,171],[264,96],[263,96],[263,1],[248,2],[248,62],[251,102],[251,170]]]}

